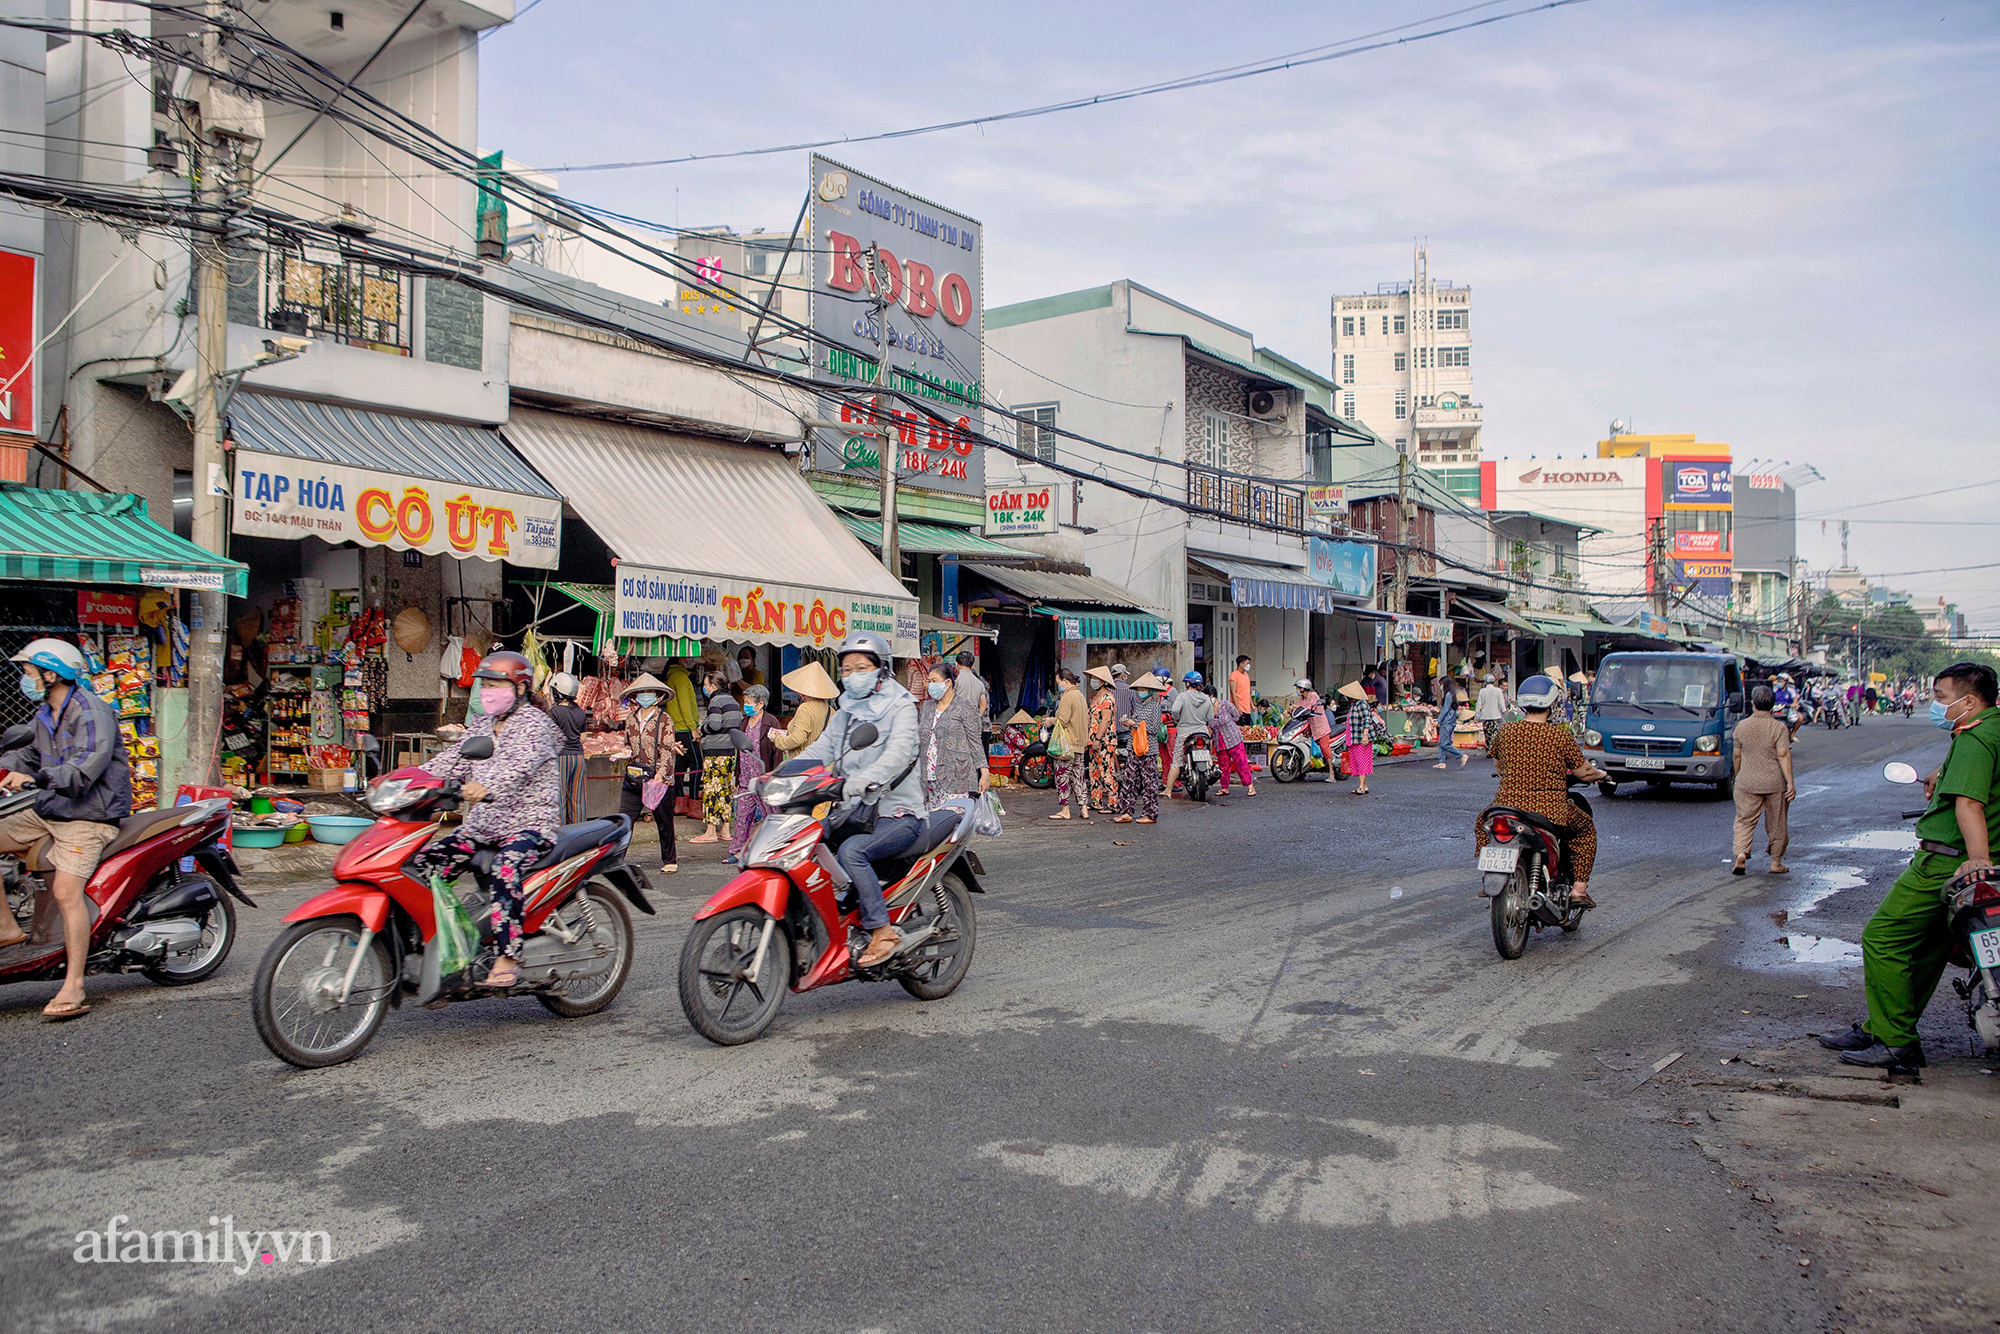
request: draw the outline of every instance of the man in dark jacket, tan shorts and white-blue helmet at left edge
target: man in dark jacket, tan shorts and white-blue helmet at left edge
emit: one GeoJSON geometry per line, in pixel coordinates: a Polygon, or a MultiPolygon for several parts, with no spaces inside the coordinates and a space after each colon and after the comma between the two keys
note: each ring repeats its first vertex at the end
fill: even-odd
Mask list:
{"type": "MultiPolygon", "coordinates": [[[[40,700],[34,740],[0,754],[0,790],[38,788],[34,806],[0,820],[0,852],[22,854],[54,838],[48,892],[62,910],[62,944],[68,972],[62,988],[42,1008],[50,1020],[90,1014],[84,1002],[84,964],[90,954],[90,908],[84,886],[98,868],[118,822],[132,814],[132,768],[118,734],[118,714],[84,682],[84,654],[64,640],[34,640],[12,658],[20,664],[20,692],[40,700]]],[[[0,912],[0,948],[20,944],[26,932],[0,912]]]]}

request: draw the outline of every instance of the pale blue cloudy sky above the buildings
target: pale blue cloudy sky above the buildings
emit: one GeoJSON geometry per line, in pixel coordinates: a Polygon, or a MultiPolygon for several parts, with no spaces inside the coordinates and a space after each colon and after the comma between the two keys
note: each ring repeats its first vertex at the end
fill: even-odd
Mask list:
{"type": "MultiPolygon", "coordinates": [[[[562,168],[1038,106],[1466,2],[540,0],[482,44],[480,138],[592,204],[782,232],[804,152],[562,168]]],[[[1810,462],[1812,570],[1848,518],[1876,584],[2000,630],[2000,566],[1962,570],[2000,562],[1996,146],[2000,6],[1584,0],[828,152],[978,218],[988,306],[1132,278],[1322,374],[1328,298],[1408,278],[1424,238],[1472,288],[1488,458],[1592,454],[1624,418],[1810,462]]]]}

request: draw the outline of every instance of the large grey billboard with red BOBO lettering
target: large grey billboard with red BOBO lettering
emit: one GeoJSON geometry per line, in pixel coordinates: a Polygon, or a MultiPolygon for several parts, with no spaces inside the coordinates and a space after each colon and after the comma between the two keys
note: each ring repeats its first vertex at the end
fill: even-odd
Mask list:
{"type": "MultiPolygon", "coordinates": [[[[974,444],[986,374],[980,224],[818,154],[810,184],[814,370],[848,386],[876,384],[880,340],[888,388],[930,400],[944,418],[892,400],[898,468],[912,484],[978,496],[986,488],[986,450],[974,444]],[[888,302],[880,322],[878,284],[888,302]]],[[[876,436],[814,438],[814,468],[880,468],[876,436]]]]}

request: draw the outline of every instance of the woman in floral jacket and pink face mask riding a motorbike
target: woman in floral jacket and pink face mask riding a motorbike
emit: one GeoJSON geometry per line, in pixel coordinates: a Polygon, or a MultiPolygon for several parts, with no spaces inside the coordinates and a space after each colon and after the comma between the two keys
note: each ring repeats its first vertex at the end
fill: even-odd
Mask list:
{"type": "Polygon", "coordinates": [[[486,892],[492,894],[492,940],[500,958],[480,986],[506,990],[520,980],[522,886],[528,868],[556,844],[562,826],[562,732],[534,702],[534,668],[502,648],[480,658],[472,672],[480,714],[466,720],[466,734],[440,750],[424,768],[438,778],[464,782],[466,812],[456,834],[434,838],[410,858],[406,870],[420,884],[430,876],[456,880],[472,858],[492,852],[486,892]],[[490,736],[494,752],[468,760],[464,744],[490,736]]]}

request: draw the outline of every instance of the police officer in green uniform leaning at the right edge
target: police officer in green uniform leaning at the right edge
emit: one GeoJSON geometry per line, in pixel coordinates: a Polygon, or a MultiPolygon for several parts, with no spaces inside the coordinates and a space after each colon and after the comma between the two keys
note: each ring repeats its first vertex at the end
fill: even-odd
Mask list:
{"type": "Polygon", "coordinates": [[[1820,1038],[1850,1066],[1914,1074],[1926,1064],[1916,1020],[1952,954],[1944,886],[1962,870],[1992,866],[1992,848],[2000,844],[2000,708],[1994,698],[1990,666],[1958,662],[1938,672],[1930,720],[1952,734],[1952,750],[1924,780],[1930,808],[1916,822],[1918,852],[1862,932],[1868,1022],[1820,1038]]]}

